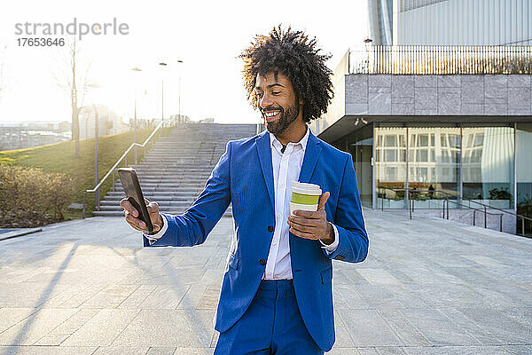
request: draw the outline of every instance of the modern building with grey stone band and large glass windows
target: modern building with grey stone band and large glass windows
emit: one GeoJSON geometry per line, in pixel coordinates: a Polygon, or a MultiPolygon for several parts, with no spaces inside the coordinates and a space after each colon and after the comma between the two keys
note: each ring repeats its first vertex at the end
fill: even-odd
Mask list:
{"type": "MultiPolygon", "coordinates": [[[[474,219],[478,225],[486,217],[488,226],[522,233],[522,220],[498,209],[532,217],[532,47],[459,44],[522,43],[525,33],[532,33],[532,4],[369,3],[372,28],[380,31],[375,42],[389,43],[391,6],[393,43],[402,45],[348,51],[333,72],[332,104],[311,129],[352,154],[366,207],[408,209],[413,203],[434,216],[449,208],[467,223],[474,219]],[[485,12],[489,19],[498,14],[505,31],[480,36],[477,28],[471,37],[464,27],[460,36],[451,36],[449,26],[438,23],[460,28],[457,21],[449,22],[453,6],[482,9],[459,7],[458,22],[464,26],[483,19],[485,12]],[[507,8],[510,12],[502,12],[507,8]],[[429,13],[433,17],[426,20],[429,13]],[[525,20],[523,13],[528,13],[525,20]],[[526,24],[526,31],[513,31],[516,22],[526,24]],[[458,45],[441,45],[451,43],[458,45]]],[[[529,221],[525,228],[532,233],[529,221]]]]}

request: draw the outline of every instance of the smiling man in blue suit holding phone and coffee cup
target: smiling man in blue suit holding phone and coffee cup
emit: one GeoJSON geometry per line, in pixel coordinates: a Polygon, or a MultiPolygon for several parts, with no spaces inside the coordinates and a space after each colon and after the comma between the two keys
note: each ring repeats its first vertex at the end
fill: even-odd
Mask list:
{"type": "MultiPolygon", "coordinates": [[[[232,202],[235,234],[223,275],[215,354],[323,354],[334,343],[332,259],[362,262],[368,237],[349,154],[316,138],[306,123],[332,98],[328,56],[288,28],[256,36],[240,57],[248,99],[267,131],[231,141],[205,189],[183,215],[160,214],[145,247],[193,246],[232,202]],[[290,216],[291,181],[321,186],[317,211],[290,216]]],[[[126,221],[145,224],[127,200],[126,221]]]]}

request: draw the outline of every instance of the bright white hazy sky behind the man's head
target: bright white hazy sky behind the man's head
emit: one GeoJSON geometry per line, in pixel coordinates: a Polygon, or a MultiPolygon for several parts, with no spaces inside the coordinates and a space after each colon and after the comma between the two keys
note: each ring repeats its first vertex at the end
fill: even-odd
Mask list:
{"type": "Polygon", "coordinates": [[[80,72],[100,86],[89,88],[83,105],[106,105],[124,122],[133,116],[136,96],[137,117],[160,117],[162,92],[166,118],[180,110],[193,121],[257,122],[238,58],[255,34],[278,24],[304,30],[332,54],[332,70],[348,48],[361,46],[368,36],[366,0],[11,2],[0,12],[0,122],[71,120],[67,47],[20,46],[27,35],[16,34],[15,25],[66,26],[74,18],[78,24],[116,19],[128,26],[127,35],[87,35],[78,41],[80,72]]]}

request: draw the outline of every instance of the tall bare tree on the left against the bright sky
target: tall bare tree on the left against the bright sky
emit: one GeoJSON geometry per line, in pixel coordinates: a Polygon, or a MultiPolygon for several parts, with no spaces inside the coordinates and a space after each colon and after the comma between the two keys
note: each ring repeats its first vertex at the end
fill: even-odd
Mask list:
{"type": "MultiPolygon", "coordinates": [[[[80,52],[81,48],[74,36],[70,41],[68,41],[67,60],[62,60],[66,61],[68,65],[68,71],[63,75],[60,75],[61,78],[59,79],[56,76],[56,81],[58,82],[59,86],[68,93],[70,98],[70,106],[72,109],[72,139],[74,140],[74,156],[76,158],[80,156],[79,114],[83,106],[85,93],[87,92],[88,75],[90,69],[90,62],[87,64],[82,64],[82,56],[80,52]]],[[[64,56],[65,54],[63,54],[63,57],[64,56]]]]}

